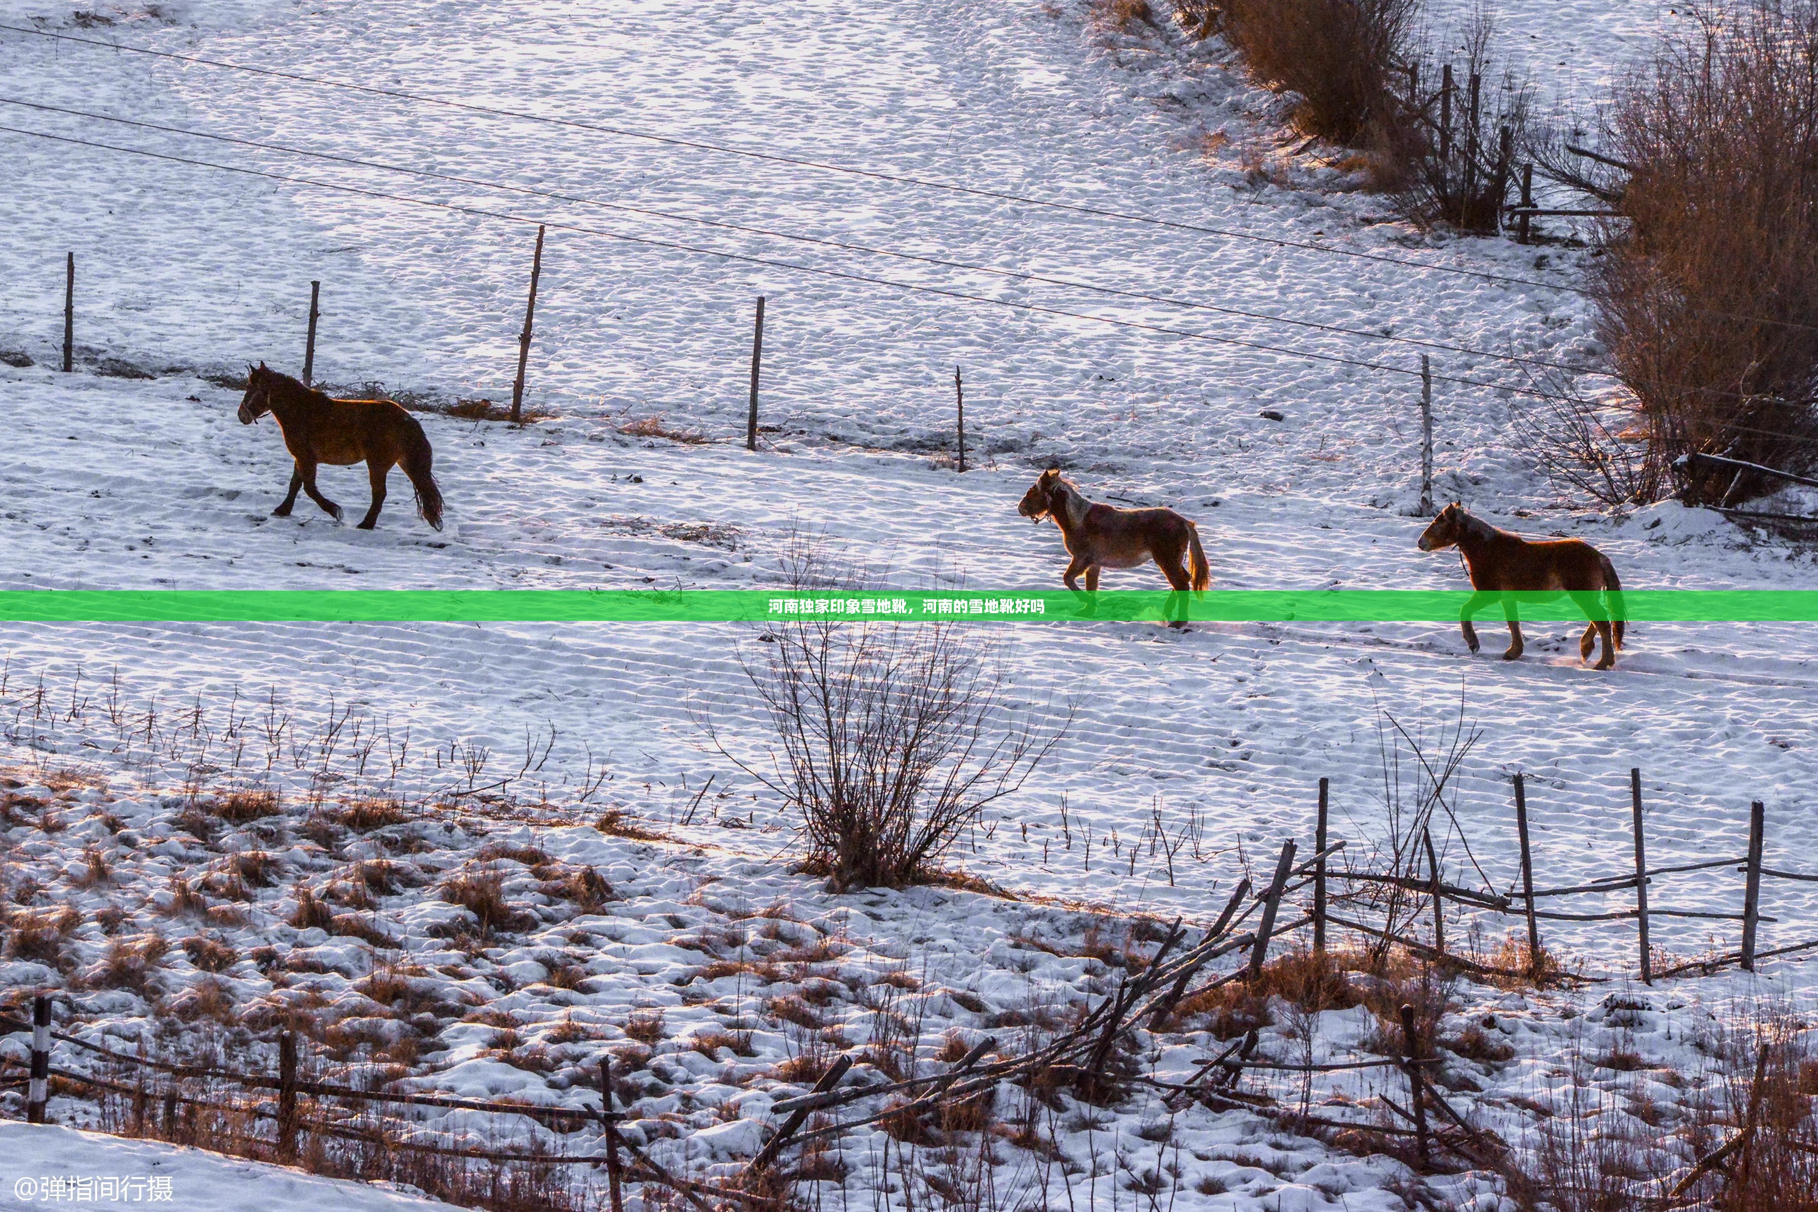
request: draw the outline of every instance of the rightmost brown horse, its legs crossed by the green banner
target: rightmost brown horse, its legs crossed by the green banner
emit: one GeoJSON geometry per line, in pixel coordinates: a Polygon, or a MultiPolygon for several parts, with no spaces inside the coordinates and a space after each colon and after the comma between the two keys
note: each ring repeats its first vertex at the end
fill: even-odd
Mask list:
{"type": "MultiPolygon", "coordinates": [[[[1602,636],[1603,658],[1596,667],[1611,669],[1616,663],[1616,649],[1622,647],[1625,629],[1620,618],[1611,623],[1609,616],[1622,612],[1622,581],[1616,580],[1616,565],[1596,547],[1576,538],[1533,540],[1498,531],[1482,518],[1473,518],[1458,502],[1442,509],[1420,536],[1420,551],[1445,547],[1458,547],[1471,574],[1471,589],[1476,591],[1458,616],[1458,627],[1473,652],[1478,651],[1478,641],[1471,618],[1505,591],[1560,591],[1571,594],[1591,620],[1578,641],[1578,658],[1589,661],[1591,649],[1602,636]],[[1607,611],[1598,603],[1598,592],[1605,591],[1607,611]]],[[[1514,598],[1502,598],[1502,612],[1509,620],[1511,636],[1502,660],[1513,661],[1522,656],[1522,621],[1514,612],[1514,598]]]]}

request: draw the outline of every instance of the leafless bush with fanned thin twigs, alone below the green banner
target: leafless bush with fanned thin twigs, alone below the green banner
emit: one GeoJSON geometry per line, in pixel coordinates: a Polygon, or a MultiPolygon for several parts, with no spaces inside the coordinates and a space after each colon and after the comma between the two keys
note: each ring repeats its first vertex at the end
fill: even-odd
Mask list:
{"type": "MultiPolygon", "coordinates": [[[[796,540],[785,567],[804,591],[865,585],[816,540],[796,540]]],[[[947,849],[1065,734],[1067,721],[1011,714],[973,636],[954,623],[771,623],[762,654],[742,658],[776,734],[765,760],[731,752],[702,718],[725,758],[800,809],[807,869],[831,887],[936,878],[947,849]]]]}

